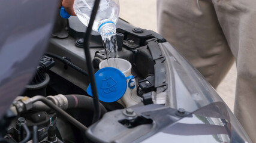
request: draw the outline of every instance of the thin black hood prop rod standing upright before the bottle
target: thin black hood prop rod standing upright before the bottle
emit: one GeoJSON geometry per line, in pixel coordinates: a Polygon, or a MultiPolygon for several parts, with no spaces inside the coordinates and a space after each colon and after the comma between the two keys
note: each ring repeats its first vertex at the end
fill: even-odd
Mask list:
{"type": "Polygon", "coordinates": [[[94,8],[92,9],[91,18],[88,24],[88,27],[86,29],[86,33],[84,36],[84,45],[83,49],[85,50],[85,58],[86,58],[86,65],[89,72],[89,79],[91,82],[91,88],[92,88],[92,98],[94,98],[94,117],[92,119],[92,123],[97,122],[100,120],[100,105],[99,105],[99,99],[98,99],[98,93],[97,93],[97,86],[94,79],[94,68],[92,67],[92,59],[91,54],[89,50],[89,41],[91,40],[91,32],[92,32],[92,26],[94,25],[94,20],[98,11],[98,7],[100,5],[100,0],[95,0],[94,2],[94,8]]]}

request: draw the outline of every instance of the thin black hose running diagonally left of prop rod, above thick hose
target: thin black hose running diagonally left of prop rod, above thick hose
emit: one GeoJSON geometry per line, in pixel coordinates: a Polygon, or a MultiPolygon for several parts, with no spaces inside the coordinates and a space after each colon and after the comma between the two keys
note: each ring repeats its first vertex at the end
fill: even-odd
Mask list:
{"type": "Polygon", "coordinates": [[[49,53],[49,52],[47,52],[45,55],[47,55],[49,57],[52,57],[52,58],[55,58],[55,59],[61,61],[62,63],[67,64],[68,66],[72,67],[74,70],[77,70],[80,73],[88,76],[88,72],[87,71],[85,71],[85,70],[81,69],[80,67],[76,66],[76,64],[74,64],[71,61],[69,61],[66,57],[61,57],[59,55],[52,54],[52,53],[49,53]]]}

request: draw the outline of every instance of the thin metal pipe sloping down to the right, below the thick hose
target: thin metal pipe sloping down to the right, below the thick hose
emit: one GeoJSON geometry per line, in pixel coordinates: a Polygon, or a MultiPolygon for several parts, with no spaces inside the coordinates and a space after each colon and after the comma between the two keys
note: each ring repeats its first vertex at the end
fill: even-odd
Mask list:
{"type": "Polygon", "coordinates": [[[44,104],[46,104],[47,106],[49,106],[50,108],[52,108],[53,110],[56,111],[56,113],[58,114],[62,114],[62,116],[66,117],[67,120],[72,123],[74,126],[76,126],[77,128],[79,128],[80,130],[86,131],[87,127],[84,126],[82,123],[80,123],[79,121],[77,121],[76,119],[74,119],[72,116],[70,116],[70,114],[66,113],[64,110],[62,110],[61,108],[59,108],[58,106],[56,106],[55,104],[53,104],[52,101],[47,100],[47,98],[43,97],[43,96],[35,96],[32,99],[32,103],[37,102],[37,101],[42,101],[44,102],[44,104]]]}

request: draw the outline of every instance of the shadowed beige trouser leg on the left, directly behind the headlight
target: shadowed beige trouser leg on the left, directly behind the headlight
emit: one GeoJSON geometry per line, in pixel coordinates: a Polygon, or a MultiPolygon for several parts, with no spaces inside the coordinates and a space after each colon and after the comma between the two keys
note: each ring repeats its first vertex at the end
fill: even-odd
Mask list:
{"type": "Polygon", "coordinates": [[[216,88],[234,62],[211,1],[158,0],[158,31],[216,88]]]}

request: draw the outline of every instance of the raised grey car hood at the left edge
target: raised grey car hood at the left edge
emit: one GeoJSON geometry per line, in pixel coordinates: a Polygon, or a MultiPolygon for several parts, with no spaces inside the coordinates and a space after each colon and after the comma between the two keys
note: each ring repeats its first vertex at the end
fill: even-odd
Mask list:
{"type": "Polygon", "coordinates": [[[0,117],[22,94],[46,49],[57,0],[8,0],[0,4],[0,117]]]}

